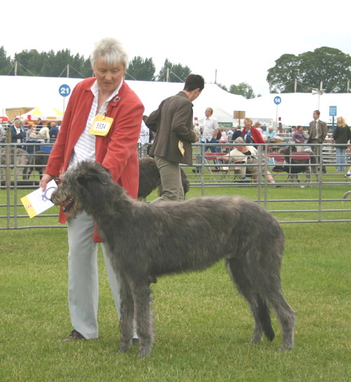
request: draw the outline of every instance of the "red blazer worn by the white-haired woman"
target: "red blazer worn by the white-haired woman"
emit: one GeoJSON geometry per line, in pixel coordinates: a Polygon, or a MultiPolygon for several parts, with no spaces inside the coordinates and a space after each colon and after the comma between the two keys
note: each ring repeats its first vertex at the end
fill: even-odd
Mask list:
{"type": "MultiPolygon", "coordinates": [[[[93,103],[95,78],[79,82],[69,98],[60,133],[48,159],[45,172],[58,177],[67,170],[74,145],[86,127],[93,103]]],[[[139,162],[138,138],[144,105],[138,95],[124,82],[118,98],[112,98],[107,107],[107,117],[114,119],[107,136],[96,136],[95,160],[111,171],[112,179],[119,183],[128,195],[138,197],[139,162]]],[[[60,223],[67,217],[60,211],[60,223]]]]}

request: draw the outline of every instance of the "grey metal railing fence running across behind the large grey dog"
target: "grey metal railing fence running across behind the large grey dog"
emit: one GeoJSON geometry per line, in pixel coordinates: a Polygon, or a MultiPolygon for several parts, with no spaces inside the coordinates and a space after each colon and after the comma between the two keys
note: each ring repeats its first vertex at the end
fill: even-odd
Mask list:
{"type": "MultiPolygon", "coordinates": [[[[147,146],[140,146],[140,157],[147,153],[147,146]]],[[[253,165],[257,166],[257,179],[251,177],[247,181],[242,181],[240,175],[245,171],[246,164],[226,163],[220,159],[220,156],[238,145],[223,143],[206,144],[207,146],[219,147],[220,153],[211,156],[209,152],[204,152],[204,144],[196,144],[193,146],[194,165],[183,166],[190,180],[190,187],[200,188],[201,195],[205,196],[209,190],[212,190],[213,194],[213,189],[216,188],[220,195],[223,193],[219,190],[221,187],[230,187],[233,195],[240,192],[242,194],[245,190],[244,193],[247,191],[251,199],[274,213],[280,223],[351,221],[351,199],[343,199],[345,192],[351,190],[351,179],[344,177],[350,166],[350,155],[346,154],[345,173],[337,173],[335,145],[320,146],[322,150],[319,150],[319,155],[314,155],[313,160],[310,159],[307,164],[303,164],[306,171],[300,171],[301,164],[293,161],[293,158],[298,156],[294,145],[284,143],[276,144],[274,147],[257,145],[258,164],[253,165]],[[282,149],[287,150],[284,163],[274,163],[271,160],[274,152],[280,154],[282,149]],[[322,161],[326,173],[320,166],[322,161]],[[285,167],[280,173],[274,171],[274,167],[279,169],[279,166],[285,167]],[[291,192],[288,198],[279,199],[275,194],[272,197],[270,190],[274,185],[267,180],[268,173],[274,177],[275,185],[289,187],[291,192]],[[289,208],[286,207],[288,204],[289,208]],[[295,208],[291,208],[291,205],[295,208]],[[302,206],[307,207],[302,208],[302,206]],[[281,216],[289,218],[280,218],[281,216]]],[[[310,145],[310,149],[314,148],[312,146],[310,145]]],[[[33,154],[28,154],[20,145],[0,143],[0,230],[65,228],[65,225],[56,223],[58,207],[53,207],[47,213],[42,213],[31,220],[20,202],[22,196],[39,187],[51,145],[46,144],[43,147],[34,144],[33,148],[33,154]]]]}

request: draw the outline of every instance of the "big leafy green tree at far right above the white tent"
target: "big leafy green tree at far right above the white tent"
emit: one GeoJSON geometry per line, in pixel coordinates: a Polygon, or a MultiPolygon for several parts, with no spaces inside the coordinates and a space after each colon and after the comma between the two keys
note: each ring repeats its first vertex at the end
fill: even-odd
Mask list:
{"type": "Polygon", "coordinates": [[[272,93],[310,93],[321,82],[326,93],[345,93],[351,80],[351,56],[336,48],[323,46],[300,55],[286,54],[268,70],[272,93]]]}

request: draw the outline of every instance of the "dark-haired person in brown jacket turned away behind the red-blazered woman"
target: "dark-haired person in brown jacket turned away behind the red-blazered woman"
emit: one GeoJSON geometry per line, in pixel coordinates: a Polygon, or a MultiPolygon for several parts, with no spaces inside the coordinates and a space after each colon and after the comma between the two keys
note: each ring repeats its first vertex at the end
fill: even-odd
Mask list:
{"type": "Polygon", "coordinates": [[[179,164],[192,165],[192,143],[199,140],[194,132],[192,101],[199,97],[203,88],[204,78],[190,74],[183,91],[163,100],[145,121],[156,133],[150,156],[157,164],[164,190],[154,202],[184,199],[179,164]]]}

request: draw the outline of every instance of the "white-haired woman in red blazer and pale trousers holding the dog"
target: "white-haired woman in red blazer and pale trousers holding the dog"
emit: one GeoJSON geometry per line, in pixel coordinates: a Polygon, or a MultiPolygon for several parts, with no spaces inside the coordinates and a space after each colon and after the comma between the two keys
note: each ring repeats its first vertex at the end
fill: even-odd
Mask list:
{"type": "MultiPolygon", "coordinates": [[[[124,81],[128,55],[121,42],[106,38],[91,53],[95,77],[74,88],[60,134],[41,178],[43,190],[53,178],[84,160],[110,170],[131,197],[138,196],[138,138],[144,106],[124,81]]],[[[106,201],[108,202],[108,201],[106,201]]],[[[60,211],[60,223],[67,218],[60,211]]],[[[94,221],[87,213],[67,220],[68,297],[73,331],[64,341],[98,338],[98,244],[94,221]]],[[[107,275],[119,313],[119,286],[102,244],[107,275]]]]}

